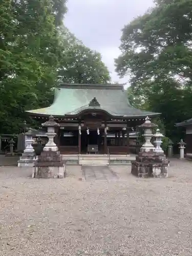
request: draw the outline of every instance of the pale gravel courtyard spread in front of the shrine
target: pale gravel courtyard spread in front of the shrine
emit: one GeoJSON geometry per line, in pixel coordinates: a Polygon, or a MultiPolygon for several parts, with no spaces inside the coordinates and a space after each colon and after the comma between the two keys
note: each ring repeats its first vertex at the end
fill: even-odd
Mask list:
{"type": "Polygon", "coordinates": [[[173,160],[167,179],[31,179],[0,167],[0,255],[192,255],[192,162],[173,160]]]}

